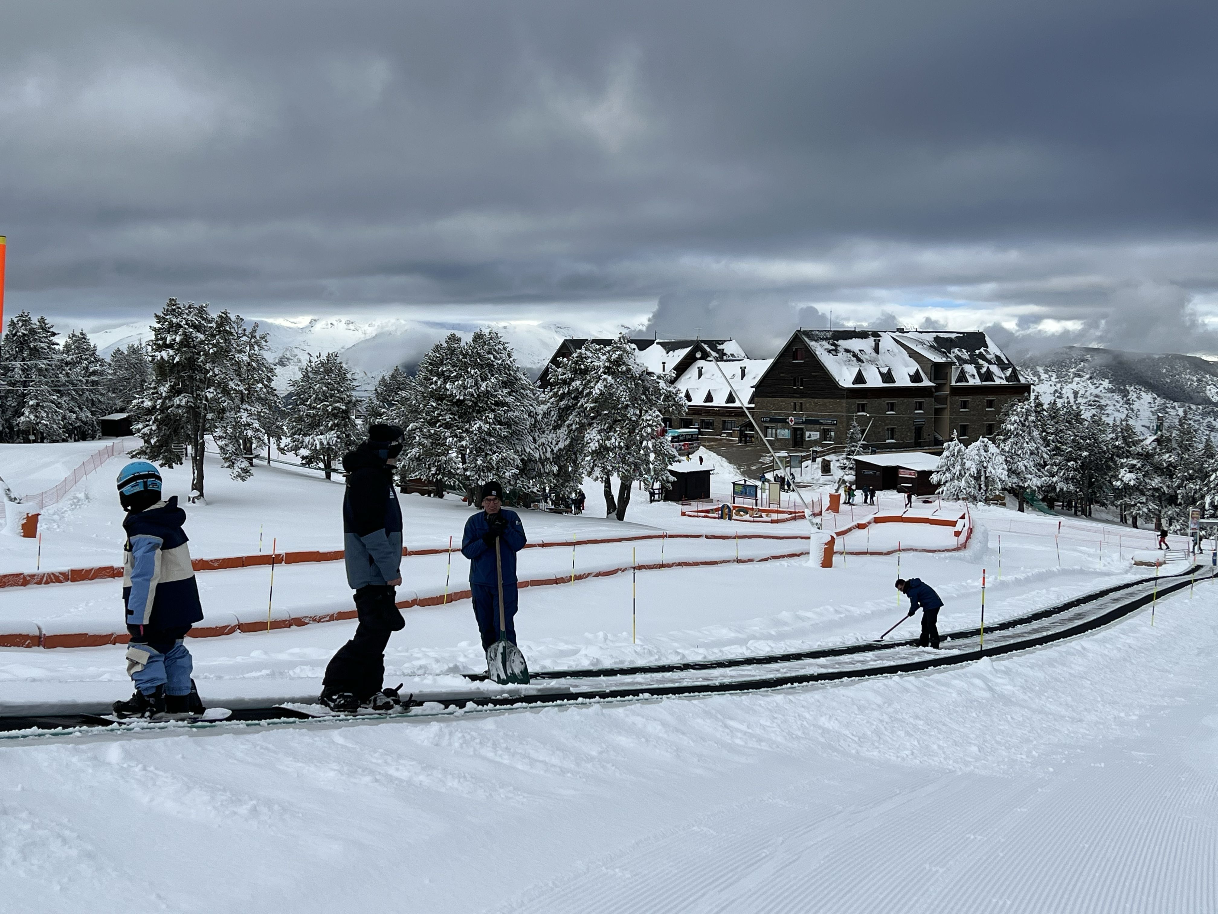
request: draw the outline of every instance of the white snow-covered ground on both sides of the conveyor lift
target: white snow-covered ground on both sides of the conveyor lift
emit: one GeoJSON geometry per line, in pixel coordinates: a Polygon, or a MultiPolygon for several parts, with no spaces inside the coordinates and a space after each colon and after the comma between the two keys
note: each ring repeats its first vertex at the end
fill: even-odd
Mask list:
{"type": "MultiPolygon", "coordinates": [[[[112,474],[97,475],[49,520],[69,564],[116,553],[112,474]]],[[[290,468],[259,468],[244,485],[218,472],[211,480],[209,503],[188,506],[196,554],[256,548],[259,523],[289,548],[339,539],[335,483],[290,468]]],[[[593,515],[599,491],[587,491],[582,518],[524,512],[530,536],[734,529],[641,501],[628,514],[638,523],[619,524],[593,515]]],[[[469,515],[452,498],[403,503],[407,540],[420,544],[446,544],[469,515]]],[[[848,518],[844,509],[829,525],[848,518]]],[[[945,630],[976,624],[983,568],[987,619],[1149,570],[1129,562],[1146,531],[1066,519],[1058,533],[1055,518],[998,508],[976,509],[974,522],[966,550],[901,556],[904,576],[944,597],[945,630]],[[1129,539],[1114,545],[1116,536],[1129,539]]],[[[864,550],[884,526],[903,525],[856,530],[849,547],[864,550]]],[[[26,541],[0,540],[6,562],[30,567],[26,541]]],[[[607,548],[625,556],[639,546],[607,548]]],[[[435,579],[438,561],[420,562],[419,574],[435,579]]],[[[340,563],[295,567],[306,568],[285,600],[342,600],[340,563]]],[[[205,601],[207,581],[216,600],[224,581],[238,581],[234,600],[242,587],[261,598],[266,581],[253,573],[264,569],[246,570],[247,583],[245,572],[201,574],[205,601]]],[[[633,587],[620,574],[521,591],[518,629],[536,668],[866,640],[905,613],[895,574],[895,556],[865,554],[839,556],[832,569],[804,558],[665,568],[639,573],[633,587]]],[[[118,617],[114,592],[94,584],[0,591],[0,612],[24,614],[35,600],[68,612],[72,595],[90,587],[97,611],[118,617]]],[[[1201,579],[1160,600],[1153,624],[1141,612],[1022,656],[831,687],[378,725],[0,741],[0,908],[125,912],[138,892],[140,907],[208,913],[1209,912],[1218,909],[1216,608],[1218,583],[1201,579]]],[[[471,615],[468,601],[408,611],[390,642],[389,685],[454,684],[479,669],[471,615]]],[[[315,693],[352,631],[330,623],[188,643],[205,698],[219,703],[315,693]]],[[[122,654],[0,650],[0,701],[125,697],[122,654]]]]}

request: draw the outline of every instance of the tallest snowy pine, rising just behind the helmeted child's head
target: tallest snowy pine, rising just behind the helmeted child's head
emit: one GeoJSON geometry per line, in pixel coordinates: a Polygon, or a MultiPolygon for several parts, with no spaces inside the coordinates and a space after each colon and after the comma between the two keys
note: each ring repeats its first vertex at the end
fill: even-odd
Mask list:
{"type": "Polygon", "coordinates": [[[230,338],[217,340],[207,305],[169,299],[153,318],[151,377],[134,405],[144,445],[132,456],[175,467],[185,462],[179,448],[188,446],[191,500],[205,495],[207,433],[224,407],[230,347],[230,338]]]}

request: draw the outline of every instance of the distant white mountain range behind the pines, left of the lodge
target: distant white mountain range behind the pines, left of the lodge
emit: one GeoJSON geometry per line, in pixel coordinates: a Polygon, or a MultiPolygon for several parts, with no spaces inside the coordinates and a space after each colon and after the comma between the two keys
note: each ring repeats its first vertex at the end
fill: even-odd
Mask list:
{"type": "MultiPolygon", "coordinates": [[[[278,366],[276,386],[286,388],[311,353],[339,352],[357,374],[359,386],[368,390],[395,366],[413,370],[423,355],[449,333],[468,339],[479,328],[492,328],[515,352],[516,362],[531,377],[568,336],[611,336],[632,328],[591,323],[568,327],[554,322],[437,322],[410,318],[270,318],[259,319],[258,329],[270,344],[270,361],[278,366]]],[[[90,333],[104,356],[116,347],[150,339],[149,324],[130,323],[90,333]]]]}

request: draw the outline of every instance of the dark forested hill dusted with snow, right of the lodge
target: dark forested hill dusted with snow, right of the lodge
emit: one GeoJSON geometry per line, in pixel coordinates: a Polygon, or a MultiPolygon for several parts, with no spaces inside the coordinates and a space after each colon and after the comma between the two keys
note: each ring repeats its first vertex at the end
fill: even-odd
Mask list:
{"type": "Polygon", "coordinates": [[[1066,346],[1022,361],[1019,370],[1041,397],[1078,397],[1144,429],[1153,428],[1157,414],[1178,416],[1188,405],[1218,435],[1218,363],[1205,358],[1066,346]]]}

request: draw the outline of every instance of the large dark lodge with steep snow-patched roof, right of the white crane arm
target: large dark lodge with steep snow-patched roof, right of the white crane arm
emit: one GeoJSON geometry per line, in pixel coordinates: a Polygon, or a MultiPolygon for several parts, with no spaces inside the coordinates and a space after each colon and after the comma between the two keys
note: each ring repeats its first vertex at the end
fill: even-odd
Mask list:
{"type": "Polygon", "coordinates": [[[758,380],[753,409],[784,450],[843,445],[853,423],[876,451],[994,435],[1032,385],[984,333],[797,330],[758,380]]]}

